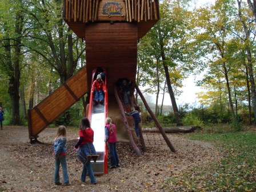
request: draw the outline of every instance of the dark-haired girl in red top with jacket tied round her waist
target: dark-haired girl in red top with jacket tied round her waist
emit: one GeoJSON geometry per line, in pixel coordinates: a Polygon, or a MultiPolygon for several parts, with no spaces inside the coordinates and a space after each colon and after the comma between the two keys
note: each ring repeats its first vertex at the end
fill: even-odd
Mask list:
{"type": "Polygon", "coordinates": [[[96,184],[96,178],[93,173],[93,168],[91,167],[91,158],[96,162],[98,155],[95,151],[93,145],[94,131],[90,127],[89,119],[86,117],[82,118],[79,127],[79,141],[75,145],[78,149],[78,159],[83,163],[83,170],[81,175],[81,181],[85,182],[86,174],[88,172],[91,183],[96,184]]]}

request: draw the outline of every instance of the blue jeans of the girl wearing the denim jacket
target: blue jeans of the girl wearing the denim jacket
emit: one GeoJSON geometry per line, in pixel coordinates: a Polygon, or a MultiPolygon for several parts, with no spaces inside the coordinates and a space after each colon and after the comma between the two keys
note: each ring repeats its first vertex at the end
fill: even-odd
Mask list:
{"type": "Polygon", "coordinates": [[[58,159],[55,159],[54,183],[59,182],[59,165],[60,164],[61,164],[61,167],[62,167],[63,182],[64,183],[69,183],[69,175],[67,175],[66,155],[59,156],[58,159]]]}

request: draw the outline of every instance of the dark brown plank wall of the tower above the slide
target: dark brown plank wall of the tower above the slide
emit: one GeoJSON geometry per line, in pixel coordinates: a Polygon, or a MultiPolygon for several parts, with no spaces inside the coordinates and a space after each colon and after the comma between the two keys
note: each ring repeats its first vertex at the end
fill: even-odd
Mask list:
{"type": "Polygon", "coordinates": [[[86,66],[88,87],[94,67],[107,70],[108,93],[114,94],[118,78],[135,82],[137,69],[137,25],[133,23],[91,23],[86,26],[86,66]]]}

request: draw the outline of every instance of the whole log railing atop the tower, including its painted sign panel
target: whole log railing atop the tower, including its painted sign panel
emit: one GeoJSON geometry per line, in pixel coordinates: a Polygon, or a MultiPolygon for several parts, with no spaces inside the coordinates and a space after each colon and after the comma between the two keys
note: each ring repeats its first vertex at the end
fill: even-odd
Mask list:
{"type": "Polygon", "coordinates": [[[68,22],[158,20],[158,0],[64,0],[63,19],[68,22]]]}

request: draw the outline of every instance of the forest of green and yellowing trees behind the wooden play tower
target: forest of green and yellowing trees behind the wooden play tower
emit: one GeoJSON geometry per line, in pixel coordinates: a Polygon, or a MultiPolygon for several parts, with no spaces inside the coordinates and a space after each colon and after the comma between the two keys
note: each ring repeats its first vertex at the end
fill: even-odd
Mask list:
{"type": "MultiPolygon", "coordinates": [[[[255,6],[254,0],[205,6],[159,1],[161,19],[138,42],[136,83],[156,95],[153,109],[163,125],[229,123],[239,129],[255,123],[255,6]],[[178,106],[179,88],[191,74],[202,77],[200,105],[178,106]],[[167,115],[159,94],[171,99],[167,115]]],[[[59,0],[0,0],[0,26],[0,106],[5,125],[26,125],[27,109],[86,65],[85,42],[63,21],[59,0]]],[[[77,126],[85,97],[53,126],[77,126]]],[[[142,117],[149,119],[143,111],[142,117]]]]}

